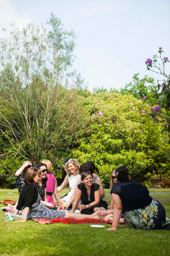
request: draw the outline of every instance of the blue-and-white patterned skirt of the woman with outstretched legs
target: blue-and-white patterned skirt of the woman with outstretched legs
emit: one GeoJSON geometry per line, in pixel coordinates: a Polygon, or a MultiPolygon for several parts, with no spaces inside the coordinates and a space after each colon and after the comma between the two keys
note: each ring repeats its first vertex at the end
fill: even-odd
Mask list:
{"type": "Polygon", "coordinates": [[[31,205],[28,218],[47,218],[48,220],[53,220],[54,218],[65,218],[65,211],[57,211],[49,209],[47,206],[40,202],[41,196],[39,195],[36,202],[31,205]]]}

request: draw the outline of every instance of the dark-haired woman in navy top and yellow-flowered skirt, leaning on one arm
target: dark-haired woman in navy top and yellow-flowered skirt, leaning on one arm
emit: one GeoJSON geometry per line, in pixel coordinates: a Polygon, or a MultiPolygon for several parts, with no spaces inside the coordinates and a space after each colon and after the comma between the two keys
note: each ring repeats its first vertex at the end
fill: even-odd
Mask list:
{"type": "Polygon", "coordinates": [[[125,166],[117,168],[115,173],[117,183],[111,190],[114,214],[112,228],[108,230],[117,230],[122,212],[133,228],[151,230],[164,226],[169,229],[170,224],[166,222],[164,207],[158,200],[151,198],[146,186],[131,181],[125,166]]]}

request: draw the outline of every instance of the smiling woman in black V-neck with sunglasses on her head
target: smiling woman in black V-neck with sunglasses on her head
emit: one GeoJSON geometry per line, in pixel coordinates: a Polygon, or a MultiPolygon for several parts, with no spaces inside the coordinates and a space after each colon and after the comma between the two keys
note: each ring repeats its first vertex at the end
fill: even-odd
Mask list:
{"type": "MultiPolygon", "coordinates": [[[[87,164],[88,165],[88,164],[87,164]]],[[[90,165],[90,164],[89,164],[90,165]]],[[[92,168],[90,165],[89,168],[92,168]]],[[[93,172],[93,168],[91,170],[93,172]]],[[[81,182],[78,189],[75,191],[75,200],[72,207],[72,212],[81,199],[79,209],[81,214],[93,214],[98,209],[107,210],[107,202],[101,198],[100,185],[93,183],[93,177],[90,171],[81,173],[81,182]]]]}

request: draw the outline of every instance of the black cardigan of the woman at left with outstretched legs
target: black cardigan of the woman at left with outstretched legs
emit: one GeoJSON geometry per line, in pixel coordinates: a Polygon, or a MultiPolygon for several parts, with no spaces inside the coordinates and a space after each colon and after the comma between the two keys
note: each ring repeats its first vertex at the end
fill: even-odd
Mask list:
{"type": "Polygon", "coordinates": [[[21,207],[29,207],[34,204],[38,197],[38,191],[36,186],[33,184],[25,184],[23,190],[20,193],[17,210],[20,210],[21,207]]]}

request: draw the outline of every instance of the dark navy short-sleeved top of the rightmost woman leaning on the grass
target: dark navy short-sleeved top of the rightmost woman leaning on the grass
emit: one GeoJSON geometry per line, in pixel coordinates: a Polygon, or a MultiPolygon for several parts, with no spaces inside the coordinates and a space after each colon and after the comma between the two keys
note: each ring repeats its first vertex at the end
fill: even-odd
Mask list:
{"type": "Polygon", "coordinates": [[[132,182],[131,180],[128,182],[115,183],[111,189],[111,194],[112,193],[120,196],[123,207],[122,212],[141,209],[150,205],[152,202],[152,198],[146,186],[138,182],[132,182]]]}

